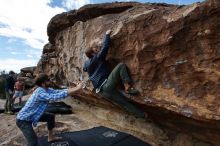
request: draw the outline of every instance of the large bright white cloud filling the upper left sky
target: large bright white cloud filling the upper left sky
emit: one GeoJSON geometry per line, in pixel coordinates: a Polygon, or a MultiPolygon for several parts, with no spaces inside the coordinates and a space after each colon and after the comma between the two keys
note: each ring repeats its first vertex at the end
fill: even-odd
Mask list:
{"type": "Polygon", "coordinates": [[[1,0],[0,35],[22,39],[32,48],[48,42],[47,24],[64,8],[49,6],[51,0],[1,0]]]}

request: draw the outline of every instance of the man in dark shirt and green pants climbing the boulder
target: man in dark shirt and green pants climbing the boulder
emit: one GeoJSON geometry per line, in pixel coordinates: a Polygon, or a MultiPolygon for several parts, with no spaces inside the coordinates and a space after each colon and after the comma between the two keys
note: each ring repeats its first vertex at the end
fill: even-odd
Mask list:
{"type": "Polygon", "coordinates": [[[119,63],[112,72],[107,68],[106,56],[109,50],[111,32],[111,30],[106,31],[101,50],[97,44],[92,44],[86,49],[85,54],[89,59],[84,63],[83,70],[88,72],[96,93],[100,92],[102,96],[133,113],[136,117],[145,118],[147,114],[130,103],[116,88],[119,81],[122,81],[126,93],[138,94],[138,91],[131,85],[127,66],[124,63],[119,63]]]}

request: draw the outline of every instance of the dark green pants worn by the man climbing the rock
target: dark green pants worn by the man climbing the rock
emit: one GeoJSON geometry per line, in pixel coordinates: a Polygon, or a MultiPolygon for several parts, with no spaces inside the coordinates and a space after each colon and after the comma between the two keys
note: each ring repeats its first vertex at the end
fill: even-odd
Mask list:
{"type": "Polygon", "coordinates": [[[119,105],[138,118],[144,118],[144,112],[134,106],[128,99],[116,88],[119,81],[130,83],[131,78],[128,75],[127,67],[124,63],[118,64],[108,76],[107,82],[101,88],[101,95],[113,103],[119,105]]]}

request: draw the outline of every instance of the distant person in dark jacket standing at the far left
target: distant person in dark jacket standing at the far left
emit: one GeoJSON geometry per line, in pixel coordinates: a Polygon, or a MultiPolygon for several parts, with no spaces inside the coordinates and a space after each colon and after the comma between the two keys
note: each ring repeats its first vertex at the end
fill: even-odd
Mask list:
{"type": "Polygon", "coordinates": [[[15,72],[9,71],[9,75],[6,77],[5,93],[6,93],[6,102],[5,102],[5,113],[13,114],[12,109],[12,96],[15,85],[15,72]]]}

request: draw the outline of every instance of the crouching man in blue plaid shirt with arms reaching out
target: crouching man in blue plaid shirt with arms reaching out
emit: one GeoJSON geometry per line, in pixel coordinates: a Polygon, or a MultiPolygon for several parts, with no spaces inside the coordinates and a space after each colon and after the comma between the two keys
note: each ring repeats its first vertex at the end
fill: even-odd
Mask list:
{"type": "Polygon", "coordinates": [[[28,146],[37,145],[37,135],[33,130],[33,126],[37,122],[47,122],[48,142],[57,140],[53,134],[55,127],[55,115],[44,113],[49,101],[56,101],[66,98],[68,95],[82,89],[83,84],[80,83],[76,87],[62,90],[54,90],[50,88],[51,82],[46,74],[40,74],[36,80],[38,88],[32,93],[25,106],[20,110],[16,117],[16,124],[25,136],[28,146]]]}

